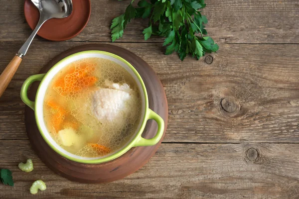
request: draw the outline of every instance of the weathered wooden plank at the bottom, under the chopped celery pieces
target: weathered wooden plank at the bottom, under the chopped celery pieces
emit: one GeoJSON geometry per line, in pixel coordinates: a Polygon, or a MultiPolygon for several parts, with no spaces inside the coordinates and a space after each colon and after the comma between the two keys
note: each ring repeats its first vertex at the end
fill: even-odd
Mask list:
{"type": "Polygon", "coordinates": [[[12,170],[15,183],[13,188],[0,186],[0,198],[29,198],[31,183],[37,179],[46,183],[47,190],[36,196],[47,199],[299,197],[298,144],[162,144],[138,172],[97,185],[70,182],[54,174],[27,140],[0,140],[0,148],[0,168],[12,170]],[[27,158],[34,163],[31,173],[17,168],[27,158]]]}

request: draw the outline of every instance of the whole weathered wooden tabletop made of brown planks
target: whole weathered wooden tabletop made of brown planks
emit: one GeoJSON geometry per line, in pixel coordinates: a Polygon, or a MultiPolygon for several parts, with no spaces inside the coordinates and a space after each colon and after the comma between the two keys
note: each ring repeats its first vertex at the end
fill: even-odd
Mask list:
{"type": "MultiPolygon", "coordinates": [[[[199,61],[163,55],[158,37],[144,41],[147,20],[133,20],[114,45],[156,71],[168,99],[168,129],[149,163],[109,184],[79,184],[49,170],[32,150],[19,97],[23,81],[54,56],[86,43],[111,43],[111,20],[128,0],[92,0],[87,27],[64,42],[36,37],[0,99],[0,168],[14,187],[0,198],[299,198],[299,1],[207,0],[207,30],[218,53],[199,61]],[[144,24],[144,25],[143,25],[144,24]],[[32,158],[34,171],[17,168],[32,158]]],[[[0,71],[30,35],[23,0],[0,0],[0,71]]]]}

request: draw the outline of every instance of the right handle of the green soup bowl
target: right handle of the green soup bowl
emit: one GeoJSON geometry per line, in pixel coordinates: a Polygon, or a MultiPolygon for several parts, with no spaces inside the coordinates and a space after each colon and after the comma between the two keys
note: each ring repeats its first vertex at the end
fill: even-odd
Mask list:
{"type": "Polygon", "coordinates": [[[151,109],[148,109],[147,120],[149,119],[153,119],[157,122],[158,124],[157,134],[151,139],[145,139],[140,135],[139,139],[137,139],[136,142],[134,143],[134,146],[152,146],[160,141],[164,132],[164,120],[162,119],[162,117],[160,117],[157,113],[155,113],[151,109]]]}

